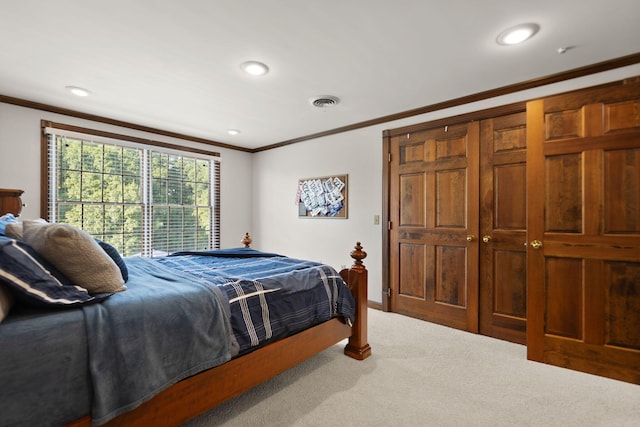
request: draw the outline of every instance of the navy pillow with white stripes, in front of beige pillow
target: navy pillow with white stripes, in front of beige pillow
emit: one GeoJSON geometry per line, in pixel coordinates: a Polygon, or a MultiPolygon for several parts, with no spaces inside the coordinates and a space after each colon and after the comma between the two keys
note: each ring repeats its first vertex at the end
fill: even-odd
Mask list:
{"type": "Polygon", "coordinates": [[[73,307],[109,296],[92,296],[79,286],[61,283],[32,248],[7,237],[0,237],[0,288],[26,304],[48,307],[73,307]]]}

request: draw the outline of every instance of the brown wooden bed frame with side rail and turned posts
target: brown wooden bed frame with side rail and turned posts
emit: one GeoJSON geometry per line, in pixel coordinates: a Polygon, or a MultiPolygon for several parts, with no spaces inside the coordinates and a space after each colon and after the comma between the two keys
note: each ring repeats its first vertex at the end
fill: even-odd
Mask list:
{"type": "MultiPolygon", "coordinates": [[[[3,213],[20,214],[21,190],[0,189],[3,213]]],[[[242,242],[249,247],[246,233],[242,242]]],[[[200,372],[163,390],[136,409],[122,414],[105,426],[177,426],[215,406],[263,383],[323,350],[349,339],[344,353],[357,360],[371,355],[367,342],[368,296],[367,269],[362,260],[367,256],[357,242],[350,253],[354,263],[340,271],[356,300],[356,317],[352,326],[334,318],[288,338],[270,343],[227,363],[200,372]]],[[[91,427],[91,417],[76,420],[67,427],[91,427]]]]}

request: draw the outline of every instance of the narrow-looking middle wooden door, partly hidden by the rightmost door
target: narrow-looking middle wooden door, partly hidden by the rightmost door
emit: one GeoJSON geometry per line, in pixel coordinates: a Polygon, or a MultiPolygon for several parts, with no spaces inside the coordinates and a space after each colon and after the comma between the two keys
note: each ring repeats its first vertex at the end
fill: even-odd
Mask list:
{"type": "Polygon", "coordinates": [[[526,113],[480,124],[480,333],[526,344],[526,113]]]}

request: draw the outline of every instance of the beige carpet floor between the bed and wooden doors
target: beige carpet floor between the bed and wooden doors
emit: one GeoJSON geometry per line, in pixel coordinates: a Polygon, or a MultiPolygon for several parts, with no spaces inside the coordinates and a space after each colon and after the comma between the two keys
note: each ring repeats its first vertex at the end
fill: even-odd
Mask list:
{"type": "Polygon", "coordinates": [[[521,345],[378,310],[369,342],[365,361],[333,346],[184,426],[640,426],[640,386],[521,345]]]}

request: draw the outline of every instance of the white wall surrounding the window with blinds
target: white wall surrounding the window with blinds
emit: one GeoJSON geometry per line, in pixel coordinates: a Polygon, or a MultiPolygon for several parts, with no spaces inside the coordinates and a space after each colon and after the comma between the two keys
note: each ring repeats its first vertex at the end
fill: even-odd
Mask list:
{"type": "Polygon", "coordinates": [[[251,228],[252,154],[0,103],[0,188],[24,190],[23,218],[40,217],[40,120],[99,129],[220,152],[223,247],[240,246],[251,228]]]}

